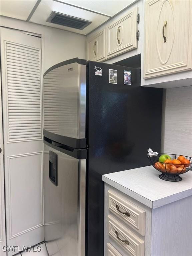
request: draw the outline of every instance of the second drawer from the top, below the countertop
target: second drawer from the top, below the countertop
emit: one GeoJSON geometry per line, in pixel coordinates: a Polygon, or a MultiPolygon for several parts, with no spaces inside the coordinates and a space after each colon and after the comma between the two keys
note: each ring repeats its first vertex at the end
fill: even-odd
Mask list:
{"type": "Polygon", "coordinates": [[[108,233],[130,255],[144,255],[145,242],[111,215],[108,215],[108,233]]]}

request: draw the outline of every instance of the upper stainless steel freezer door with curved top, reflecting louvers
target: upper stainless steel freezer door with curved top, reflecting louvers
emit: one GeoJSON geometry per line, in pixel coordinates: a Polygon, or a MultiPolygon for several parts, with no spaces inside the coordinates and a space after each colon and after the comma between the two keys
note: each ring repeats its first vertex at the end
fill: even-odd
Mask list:
{"type": "Polygon", "coordinates": [[[85,138],[85,64],[79,59],[65,61],[50,68],[43,77],[44,131],[47,132],[44,136],[62,144],[67,145],[62,137],[85,138]]]}

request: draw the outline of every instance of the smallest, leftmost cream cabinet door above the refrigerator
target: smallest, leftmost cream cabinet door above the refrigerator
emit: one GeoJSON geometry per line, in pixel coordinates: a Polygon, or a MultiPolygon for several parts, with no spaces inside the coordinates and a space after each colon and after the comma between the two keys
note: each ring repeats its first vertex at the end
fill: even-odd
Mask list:
{"type": "Polygon", "coordinates": [[[105,60],[105,29],[87,38],[87,60],[105,60]]]}

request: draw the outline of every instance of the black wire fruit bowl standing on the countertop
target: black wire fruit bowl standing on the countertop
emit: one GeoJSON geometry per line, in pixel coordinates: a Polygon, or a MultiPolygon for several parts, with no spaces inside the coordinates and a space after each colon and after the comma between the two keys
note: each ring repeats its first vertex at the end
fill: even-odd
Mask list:
{"type": "MultiPolygon", "coordinates": [[[[190,164],[171,164],[171,163],[161,163],[159,162],[159,157],[164,154],[158,154],[155,156],[147,156],[153,167],[161,172],[159,178],[166,181],[181,181],[182,178],[179,176],[180,174],[186,173],[192,169],[192,157],[184,156],[185,159],[190,161],[190,164]]],[[[171,160],[177,159],[180,155],[176,154],[167,154],[171,157],[171,160]]]]}

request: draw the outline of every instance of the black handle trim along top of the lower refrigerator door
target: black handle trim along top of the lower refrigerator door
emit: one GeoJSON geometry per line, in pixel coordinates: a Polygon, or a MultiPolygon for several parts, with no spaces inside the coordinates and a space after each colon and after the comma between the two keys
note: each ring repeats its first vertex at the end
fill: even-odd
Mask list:
{"type": "Polygon", "coordinates": [[[65,153],[66,155],[72,156],[76,159],[87,159],[87,149],[76,149],[71,148],[66,145],[62,145],[60,143],[55,143],[54,141],[44,137],[43,142],[48,145],[49,147],[52,147],[62,153],[65,153]]]}

